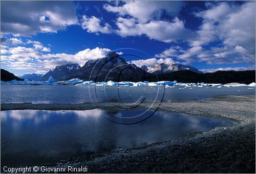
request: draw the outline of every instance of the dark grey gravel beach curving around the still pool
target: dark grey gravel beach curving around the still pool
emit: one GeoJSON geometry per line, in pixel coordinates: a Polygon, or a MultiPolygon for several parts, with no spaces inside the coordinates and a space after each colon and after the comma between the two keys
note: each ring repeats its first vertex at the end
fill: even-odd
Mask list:
{"type": "MultiPolygon", "coordinates": [[[[121,104],[120,104],[121,105],[121,104]]],[[[113,103],[2,104],[1,110],[113,110],[113,103]]],[[[147,108],[142,104],[140,108],[147,108]]],[[[153,106],[157,107],[156,106],[153,106]]],[[[168,101],[160,110],[225,117],[238,125],[196,132],[186,138],[65,159],[48,167],[87,166],[92,173],[255,173],[255,96],[216,96],[208,101],[168,101]]]]}

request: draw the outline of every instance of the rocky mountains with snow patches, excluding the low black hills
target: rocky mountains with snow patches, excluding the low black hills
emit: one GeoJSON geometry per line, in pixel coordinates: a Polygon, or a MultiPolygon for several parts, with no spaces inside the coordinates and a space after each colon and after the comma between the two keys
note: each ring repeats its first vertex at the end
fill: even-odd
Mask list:
{"type": "Polygon", "coordinates": [[[66,64],[56,66],[40,78],[46,81],[50,76],[56,81],[79,78],[85,81],[143,81],[143,78],[151,76],[152,73],[168,73],[178,70],[191,70],[203,73],[195,67],[172,63],[169,65],[160,64],[154,67],[138,67],[135,64],[127,63],[117,53],[111,52],[103,58],[89,60],[82,67],[78,64],[66,64]],[[120,73],[121,72],[121,73],[120,73]],[[108,76],[106,76],[108,75],[108,76]],[[142,78],[142,79],[141,79],[142,78]]]}

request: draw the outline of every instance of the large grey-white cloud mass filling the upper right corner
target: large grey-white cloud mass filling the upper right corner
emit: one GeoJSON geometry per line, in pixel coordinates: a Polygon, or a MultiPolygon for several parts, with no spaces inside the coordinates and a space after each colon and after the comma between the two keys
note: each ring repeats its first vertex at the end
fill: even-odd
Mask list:
{"type": "Polygon", "coordinates": [[[166,49],[158,57],[176,56],[186,62],[207,64],[255,63],[255,3],[206,3],[196,37],[186,40],[188,48],[166,49]],[[211,43],[219,42],[208,48],[211,43]],[[178,53],[178,54],[177,54],[178,53]]]}

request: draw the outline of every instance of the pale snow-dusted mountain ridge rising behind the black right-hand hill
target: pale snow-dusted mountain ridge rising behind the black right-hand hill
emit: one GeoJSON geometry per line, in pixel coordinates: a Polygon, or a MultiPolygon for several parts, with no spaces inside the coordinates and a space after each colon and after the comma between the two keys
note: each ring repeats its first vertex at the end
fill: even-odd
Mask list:
{"type": "Polygon", "coordinates": [[[157,66],[153,67],[145,67],[145,70],[147,72],[153,73],[153,74],[160,74],[160,73],[169,73],[169,72],[174,72],[174,71],[179,71],[179,70],[191,70],[193,72],[197,73],[203,73],[202,71],[199,71],[197,68],[192,67],[192,66],[187,66],[183,64],[177,64],[177,63],[171,63],[171,64],[164,64],[161,63],[157,66]]]}

